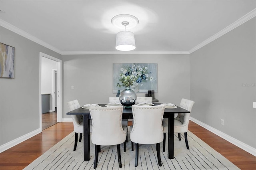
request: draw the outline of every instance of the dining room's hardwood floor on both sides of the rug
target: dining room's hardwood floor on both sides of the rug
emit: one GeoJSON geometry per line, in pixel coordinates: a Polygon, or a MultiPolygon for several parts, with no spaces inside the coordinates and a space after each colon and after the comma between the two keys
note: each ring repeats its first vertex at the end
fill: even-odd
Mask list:
{"type": "MultiPolygon", "coordinates": [[[[242,170],[255,170],[256,157],[190,121],[188,129],[242,170]]],[[[0,153],[0,170],[22,170],[73,131],[72,122],[61,122],[0,153]]]]}

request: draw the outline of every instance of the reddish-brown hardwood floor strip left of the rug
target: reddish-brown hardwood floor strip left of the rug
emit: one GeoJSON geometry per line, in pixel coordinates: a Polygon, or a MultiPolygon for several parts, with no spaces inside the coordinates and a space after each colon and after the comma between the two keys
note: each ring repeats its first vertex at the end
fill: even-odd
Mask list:
{"type": "Polygon", "coordinates": [[[57,123],[0,153],[0,170],[22,170],[73,130],[72,122],[57,123]]]}

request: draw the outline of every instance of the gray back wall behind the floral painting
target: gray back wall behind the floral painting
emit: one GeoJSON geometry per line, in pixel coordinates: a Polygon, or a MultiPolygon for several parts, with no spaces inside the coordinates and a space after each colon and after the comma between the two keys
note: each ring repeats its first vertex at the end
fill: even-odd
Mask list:
{"type": "MultiPolygon", "coordinates": [[[[182,98],[190,98],[189,55],[63,55],[63,111],[68,112],[67,102],[78,99],[80,105],[108,103],[112,93],[113,63],[157,63],[158,93],[161,103],[180,105],[182,98]],[[74,89],[71,86],[74,85],[74,89]]],[[[137,93],[145,96],[145,93],[137,93]]]]}

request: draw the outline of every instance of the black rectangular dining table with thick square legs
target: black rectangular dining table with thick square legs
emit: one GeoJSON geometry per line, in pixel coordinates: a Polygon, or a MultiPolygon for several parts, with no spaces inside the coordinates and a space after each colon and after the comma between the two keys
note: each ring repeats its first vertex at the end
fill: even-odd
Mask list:
{"type": "MultiPolygon", "coordinates": [[[[154,103],[160,105],[161,103],[154,103]]],[[[98,104],[104,107],[106,104],[98,104]]],[[[173,109],[164,109],[164,118],[168,118],[168,158],[174,158],[174,114],[175,113],[190,113],[190,111],[181,107],[173,109]]],[[[90,160],[90,111],[82,107],[70,111],[67,115],[83,115],[84,116],[84,161],[90,160]]],[[[132,108],[124,108],[122,119],[133,119],[132,108]]]]}

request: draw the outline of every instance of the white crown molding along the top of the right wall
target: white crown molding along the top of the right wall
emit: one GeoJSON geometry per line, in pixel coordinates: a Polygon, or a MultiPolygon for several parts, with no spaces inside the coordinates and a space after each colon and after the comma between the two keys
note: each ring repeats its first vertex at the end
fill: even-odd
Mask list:
{"type": "Polygon", "coordinates": [[[243,16],[242,18],[236,20],[233,24],[227,26],[226,28],[224,28],[223,30],[221,30],[220,32],[218,32],[217,34],[211,36],[210,38],[208,38],[207,40],[205,40],[204,42],[196,45],[194,48],[189,50],[189,53],[193,53],[194,51],[202,48],[204,45],[207,45],[208,43],[216,40],[217,38],[220,38],[221,36],[223,36],[224,34],[230,32],[231,30],[233,30],[234,28],[244,24],[246,21],[254,18],[256,16],[256,8],[254,10],[252,10],[251,12],[249,12],[248,14],[246,14],[245,16],[243,16]]]}

